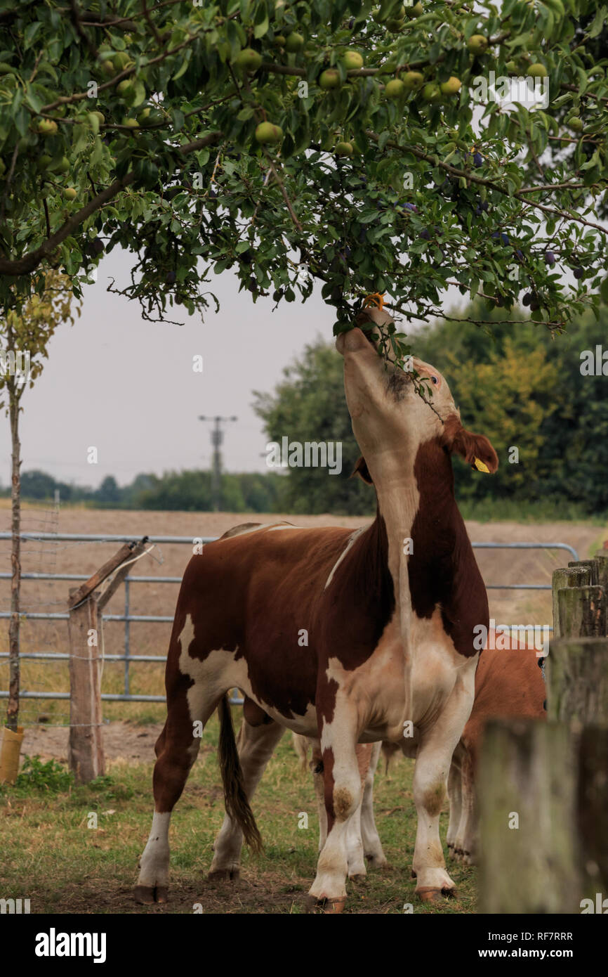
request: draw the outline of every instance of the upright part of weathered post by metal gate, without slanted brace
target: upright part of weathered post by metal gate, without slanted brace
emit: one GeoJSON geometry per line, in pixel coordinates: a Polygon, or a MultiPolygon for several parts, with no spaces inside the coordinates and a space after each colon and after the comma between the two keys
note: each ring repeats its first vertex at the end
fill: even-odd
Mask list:
{"type": "MultiPolygon", "coordinates": [[[[70,598],[78,593],[70,589],[70,598]]],[[[69,609],[69,766],[78,784],[105,772],[101,733],[99,591],[69,609]]]]}

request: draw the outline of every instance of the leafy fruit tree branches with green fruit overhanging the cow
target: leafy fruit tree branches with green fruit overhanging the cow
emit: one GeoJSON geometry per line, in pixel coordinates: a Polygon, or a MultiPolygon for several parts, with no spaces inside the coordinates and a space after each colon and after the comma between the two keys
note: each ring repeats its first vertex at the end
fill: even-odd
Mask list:
{"type": "Polygon", "coordinates": [[[450,284],[560,329],[608,298],[595,7],[0,2],[4,309],[120,246],[150,319],[231,268],[254,301],[320,280],[336,330],[373,292],[432,319],[450,284]],[[541,104],[496,97],[517,76],[541,104]]]}

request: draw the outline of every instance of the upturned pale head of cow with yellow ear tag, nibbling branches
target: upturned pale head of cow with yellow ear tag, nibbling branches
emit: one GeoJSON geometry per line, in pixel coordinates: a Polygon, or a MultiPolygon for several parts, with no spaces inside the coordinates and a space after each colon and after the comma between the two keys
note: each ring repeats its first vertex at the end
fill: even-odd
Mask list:
{"type": "MultiPolygon", "coordinates": [[[[392,321],[381,309],[366,309],[359,325],[381,326],[392,321]]],[[[371,475],[399,479],[413,466],[419,448],[433,442],[454,451],[473,468],[495,472],[496,451],[483,435],[466,431],[445,378],[434,366],[413,358],[425,390],[418,393],[413,373],[379,356],[379,332],[360,328],[341,333],[336,342],[345,359],[346,404],[352,430],[371,475]],[[369,337],[369,338],[368,338],[369,337]],[[426,392],[432,391],[432,397],[426,392]],[[480,463],[480,464],[479,464],[480,463]],[[481,467],[480,467],[481,466],[481,467]]]]}

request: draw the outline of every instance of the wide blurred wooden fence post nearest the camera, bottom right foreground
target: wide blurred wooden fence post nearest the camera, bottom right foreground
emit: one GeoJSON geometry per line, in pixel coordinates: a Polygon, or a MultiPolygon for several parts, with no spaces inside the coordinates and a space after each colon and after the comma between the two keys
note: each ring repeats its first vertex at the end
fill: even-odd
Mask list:
{"type": "Polygon", "coordinates": [[[482,913],[577,913],[573,739],[562,724],[493,720],[478,796],[482,913]]]}

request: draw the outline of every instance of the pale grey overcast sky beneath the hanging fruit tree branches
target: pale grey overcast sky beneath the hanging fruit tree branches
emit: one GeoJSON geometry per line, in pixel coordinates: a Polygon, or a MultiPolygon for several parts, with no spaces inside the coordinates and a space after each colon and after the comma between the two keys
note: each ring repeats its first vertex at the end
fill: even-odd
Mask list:
{"type": "MultiPolygon", "coordinates": [[[[105,257],[80,319],[52,339],[42,375],[23,395],[22,471],[40,468],[97,487],[106,475],[125,485],[140,472],[206,468],[210,425],[199,414],[238,417],[223,443],[227,470],[267,471],[252,391],[271,391],[283,366],[315,336],[332,338],[332,310],[317,292],[305,305],[284,303],[273,313],[270,298],[254,305],[226,272],[214,283],[218,315],[212,307],[204,322],[179,313],[182,326],[147,322],[138,302],[105,290],[108,276],[127,281],[131,261],[118,249],[105,257]],[[192,370],[196,354],[204,358],[202,375],[192,370]],[[98,448],[98,464],[87,462],[90,446],[98,448]]],[[[10,484],[10,453],[3,418],[3,486],[10,484]]]]}

